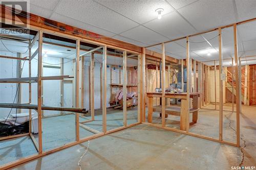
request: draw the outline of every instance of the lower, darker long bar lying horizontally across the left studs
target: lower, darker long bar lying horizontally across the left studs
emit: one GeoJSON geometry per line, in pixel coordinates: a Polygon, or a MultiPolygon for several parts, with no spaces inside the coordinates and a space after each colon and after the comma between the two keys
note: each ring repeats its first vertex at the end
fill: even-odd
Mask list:
{"type": "MultiPolygon", "coordinates": [[[[37,110],[37,105],[31,104],[14,104],[14,103],[0,103],[0,108],[19,108],[19,109],[33,109],[37,110]]],[[[81,108],[66,108],[66,107],[52,107],[52,106],[43,106],[42,110],[56,110],[56,111],[67,111],[67,112],[76,112],[76,113],[88,113],[86,109],[81,108]]]]}

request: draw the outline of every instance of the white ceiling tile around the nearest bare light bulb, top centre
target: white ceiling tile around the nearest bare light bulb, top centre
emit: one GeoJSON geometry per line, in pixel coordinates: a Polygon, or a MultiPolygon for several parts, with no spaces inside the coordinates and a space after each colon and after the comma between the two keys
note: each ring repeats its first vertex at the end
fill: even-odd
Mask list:
{"type": "Polygon", "coordinates": [[[112,10],[142,24],[157,18],[155,12],[158,8],[163,8],[162,15],[172,12],[173,9],[163,0],[142,0],[142,1],[105,1],[96,0],[98,3],[111,8],[112,10]]]}

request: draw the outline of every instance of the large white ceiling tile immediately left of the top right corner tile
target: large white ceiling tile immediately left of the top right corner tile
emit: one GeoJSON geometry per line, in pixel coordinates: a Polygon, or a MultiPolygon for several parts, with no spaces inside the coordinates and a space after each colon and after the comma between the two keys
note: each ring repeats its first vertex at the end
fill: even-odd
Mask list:
{"type": "Polygon", "coordinates": [[[198,31],[236,22],[232,1],[198,1],[178,10],[198,31]]]}

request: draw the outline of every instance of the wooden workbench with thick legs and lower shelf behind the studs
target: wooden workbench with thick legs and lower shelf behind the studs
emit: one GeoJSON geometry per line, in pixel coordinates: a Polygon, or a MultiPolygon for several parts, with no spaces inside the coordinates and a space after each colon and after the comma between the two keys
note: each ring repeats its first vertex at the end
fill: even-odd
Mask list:
{"type": "MultiPolygon", "coordinates": [[[[186,102],[187,93],[165,93],[165,98],[181,99],[181,107],[165,106],[165,114],[172,114],[180,116],[180,129],[186,130],[187,126],[189,128],[189,123],[187,124],[187,119],[189,120],[189,114],[193,113],[193,122],[197,123],[198,118],[198,96],[200,93],[190,93],[189,97],[193,99],[193,107],[189,108],[189,103],[186,102]]],[[[161,92],[147,92],[148,98],[148,111],[147,111],[147,121],[152,123],[153,111],[162,112],[162,106],[153,107],[153,98],[162,98],[161,92]]],[[[163,116],[163,115],[162,115],[163,116]]]]}

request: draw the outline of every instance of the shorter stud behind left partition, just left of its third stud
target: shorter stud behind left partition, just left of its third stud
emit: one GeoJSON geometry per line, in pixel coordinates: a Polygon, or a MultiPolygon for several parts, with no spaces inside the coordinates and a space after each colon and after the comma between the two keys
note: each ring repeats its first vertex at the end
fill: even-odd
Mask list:
{"type": "Polygon", "coordinates": [[[91,105],[91,117],[94,120],[94,53],[90,55],[90,105],[91,105]]]}

